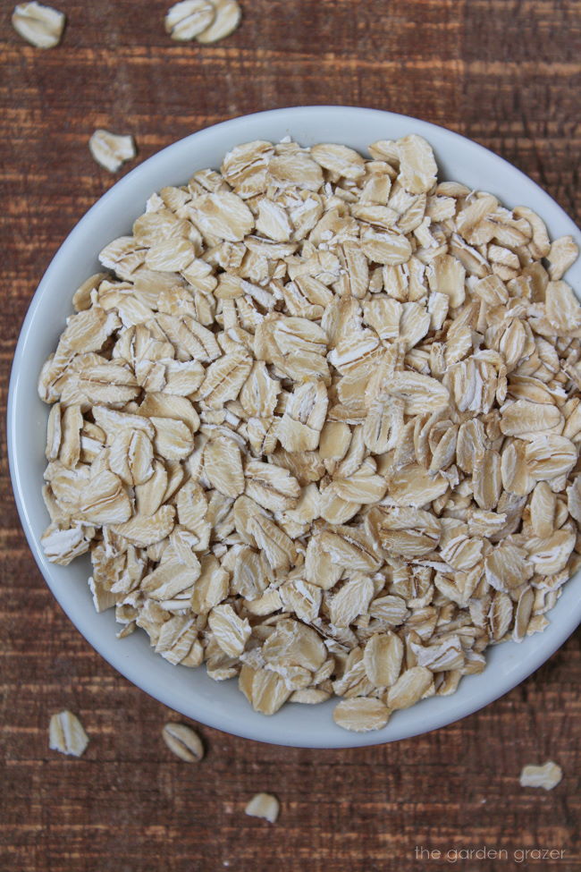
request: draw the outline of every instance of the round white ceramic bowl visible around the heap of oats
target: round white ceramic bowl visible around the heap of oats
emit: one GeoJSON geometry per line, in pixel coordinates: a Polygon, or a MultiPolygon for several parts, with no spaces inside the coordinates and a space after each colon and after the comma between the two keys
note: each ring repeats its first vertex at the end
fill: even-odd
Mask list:
{"type": "MultiPolygon", "coordinates": [[[[335,700],[320,706],[287,705],[276,715],[258,715],[236,682],[216,683],[206,670],[172,666],[149,648],[138,631],[116,639],[112,611],[96,614],[88,591],[88,559],[70,566],[48,563],[39,545],[47,515],[41,499],[45,467],[47,406],[37,394],[38,372],[55,349],[64,319],[72,312],[72,293],[97,271],[97,253],[108,241],[131,232],[149,194],[164,185],[185,182],[193,171],[220,164],[232,146],[248,140],[281,140],[290,135],[302,145],[342,142],[361,151],[379,139],[420,133],[434,146],[442,178],[498,195],[509,207],[533,208],[548,225],[552,238],[581,234],[563,210],[535,182],[475,142],[457,133],[405,115],[354,106],[305,106],[275,109],[235,118],[164,148],[139,165],[98,200],[63,242],[38,285],[21,330],[13,362],[8,405],[8,445],[14,494],[29,546],[66,614],[85,639],[122,675],[164,705],[183,715],[248,739],[308,748],[341,748],[406,739],[434,730],[475,712],[511,690],[552,655],[581,620],[581,573],[568,581],[540,635],[520,645],[491,648],[484,673],[465,678],[451,697],[425,699],[393,715],[381,731],[352,733],[333,723],[335,700]]],[[[581,287],[581,264],[568,281],[581,287]]]]}

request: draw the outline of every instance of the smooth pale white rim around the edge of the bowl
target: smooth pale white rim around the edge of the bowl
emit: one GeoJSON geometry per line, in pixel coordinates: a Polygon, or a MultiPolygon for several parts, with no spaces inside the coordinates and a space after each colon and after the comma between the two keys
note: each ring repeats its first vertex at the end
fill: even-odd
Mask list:
{"type": "MultiPolygon", "coordinates": [[[[577,587],[579,588],[577,605],[574,605],[574,602],[571,602],[568,603],[568,608],[560,608],[559,625],[555,625],[555,623],[552,622],[550,628],[547,628],[547,631],[545,631],[545,633],[543,633],[541,637],[537,637],[538,639],[542,639],[542,644],[539,644],[531,653],[531,655],[528,656],[524,662],[521,662],[518,665],[518,668],[513,668],[504,676],[496,676],[493,681],[488,682],[487,685],[485,685],[485,690],[479,693],[476,701],[474,699],[470,699],[461,704],[459,704],[458,702],[454,704],[454,695],[452,695],[451,697],[446,698],[448,704],[446,705],[446,707],[444,707],[440,715],[436,714],[429,716],[427,715],[427,712],[425,712],[424,718],[422,718],[421,715],[417,716],[417,723],[415,726],[411,726],[407,729],[399,731],[391,730],[390,733],[394,732],[393,735],[384,734],[384,731],[368,733],[345,732],[344,736],[341,734],[341,736],[337,737],[333,735],[327,737],[323,736],[319,738],[318,736],[314,736],[311,734],[310,737],[306,740],[303,737],[294,734],[294,732],[282,731],[283,736],[282,741],[280,741],[276,736],[273,736],[272,729],[267,729],[265,727],[264,730],[261,730],[259,728],[255,728],[254,726],[250,729],[245,724],[239,723],[239,721],[237,720],[233,720],[232,718],[229,719],[228,717],[225,717],[223,715],[217,715],[213,713],[211,708],[208,709],[206,707],[206,710],[204,710],[201,714],[196,714],[195,711],[192,714],[191,712],[193,709],[191,707],[189,711],[184,711],[183,703],[180,705],[179,700],[176,700],[173,693],[166,691],[164,686],[162,686],[161,688],[158,686],[156,686],[156,688],[153,688],[151,684],[147,682],[147,676],[141,674],[140,669],[134,668],[133,665],[128,662],[127,658],[117,653],[114,644],[112,644],[110,648],[107,647],[107,645],[103,643],[102,640],[99,638],[101,633],[97,630],[94,630],[94,628],[90,625],[90,622],[83,621],[79,614],[75,614],[75,610],[68,602],[67,597],[63,595],[62,591],[59,590],[58,586],[54,583],[54,580],[51,576],[52,564],[48,564],[46,562],[46,558],[42,553],[38,538],[36,537],[31,526],[23,486],[23,475],[26,459],[21,457],[18,445],[19,425],[17,421],[17,406],[19,399],[19,376],[21,374],[21,368],[24,364],[26,345],[29,341],[29,335],[32,326],[34,325],[36,312],[39,308],[43,294],[51,282],[52,275],[57,271],[58,267],[61,266],[62,262],[66,261],[66,258],[69,257],[70,250],[74,249],[77,238],[80,235],[80,229],[86,227],[94,220],[99,220],[99,216],[101,216],[102,212],[106,212],[106,209],[109,207],[110,202],[112,202],[114,199],[117,199],[120,194],[122,194],[125,190],[131,190],[131,186],[133,185],[133,183],[136,182],[138,177],[140,177],[140,175],[143,173],[144,167],[147,166],[148,168],[152,168],[157,164],[159,164],[160,166],[164,165],[168,158],[171,157],[173,152],[177,154],[177,151],[179,149],[186,148],[187,145],[194,145],[201,143],[204,140],[209,140],[215,136],[216,131],[228,130],[229,133],[232,134],[232,146],[234,144],[237,144],[238,142],[248,141],[244,140],[243,131],[245,125],[248,124],[248,120],[250,119],[263,119],[265,123],[268,123],[269,121],[274,119],[280,119],[288,121],[290,127],[293,123],[293,118],[295,117],[298,118],[300,116],[300,118],[304,121],[313,114],[329,114],[330,112],[337,113],[338,111],[344,113],[346,116],[349,114],[353,114],[355,116],[362,113],[381,116],[381,121],[385,124],[386,127],[388,127],[388,129],[388,125],[391,119],[405,121],[409,123],[410,127],[413,126],[414,132],[425,135],[425,138],[427,140],[430,140],[430,136],[434,136],[434,131],[437,131],[438,137],[441,140],[445,140],[446,142],[450,142],[451,144],[455,143],[461,148],[469,149],[476,158],[480,155],[482,157],[486,156],[486,159],[490,160],[492,156],[497,162],[500,162],[500,165],[508,166],[510,173],[515,174],[515,177],[518,178],[520,182],[526,182],[527,186],[532,186],[531,190],[535,190],[535,195],[537,198],[539,197],[539,195],[542,195],[542,199],[544,200],[545,205],[552,208],[553,214],[557,214],[560,217],[561,223],[564,222],[565,224],[568,224],[568,227],[570,228],[568,230],[568,233],[573,233],[577,236],[578,239],[579,230],[577,226],[572,222],[572,220],[568,217],[567,213],[559,206],[558,203],[556,203],[554,199],[552,199],[552,197],[548,193],[546,193],[546,191],[544,191],[539,185],[533,182],[533,180],[526,176],[526,174],[522,173],[517,167],[511,165],[509,161],[505,160],[499,155],[496,155],[489,149],[484,148],[484,146],[481,146],[474,140],[469,140],[467,139],[467,137],[464,137],[455,131],[450,131],[449,129],[442,127],[441,125],[422,121],[410,115],[391,113],[381,109],[372,109],[363,106],[289,106],[278,109],[266,110],[265,112],[240,115],[227,121],[211,125],[200,131],[196,131],[195,133],[189,134],[189,136],[173,142],[171,145],[161,149],[152,157],[147,158],[146,161],[143,161],[141,164],[132,169],[130,173],[123,176],[122,179],[120,179],[118,182],[115,182],[114,185],[109,190],[107,190],[102,197],[97,199],[94,205],[90,207],[85,215],[82,216],[80,220],[73,226],[72,231],[67,235],[59,249],[56,251],[55,256],[54,258],[52,258],[49,266],[46,268],[46,272],[43,275],[40,283],[38,284],[36,292],[34,293],[32,299],[29,302],[29,307],[26,312],[26,316],[23,319],[18,343],[14,352],[6,415],[10,478],[13,486],[15,503],[20,516],[22,528],[24,529],[24,533],[29,544],[29,548],[32,552],[35,562],[38,565],[39,570],[41,571],[44,579],[46,580],[46,584],[51,589],[57,602],[59,603],[59,605],[61,605],[64,613],[67,614],[76,629],[80,631],[81,635],[85,639],[88,640],[88,643],[93,648],[95,648],[97,652],[101,656],[103,656],[105,660],[110,665],[112,665],[117,672],[121,673],[124,678],[139,687],[140,690],[145,690],[150,696],[156,698],[163,705],[181,711],[184,715],[191,717],[194,720],[198,720],[200,723],[206,724],[217,730],[222,730],[223,732],[228,732],[230,734],[254,741],[265,741],[272,744],[290,745],[305,748],[348,748],[383,744],[388,741],[399,741],[402,739],[411,738],[412,736],[416,736],[421,733],[431,732],[448,724],[452,724],[459,719],[466,717],[467,715],[473,714],[480,708],[487,706],[495,699],[501,697],[509,690],[512,690],[514,687],[516,687],[520,682],[524,681],[526,677],[528,677],[531,673],[535,672],[535,670],[540,665],[543,665],[543,663],[550,656],[552,656],[552,654],[558,648],[560,648],[560,646],[568,638],[568,636],[576,629],[577,624],[581,621],[581,573],[577,573],[577,581],[579,581],[579,584],[577,585],[577,587]],[[549,630],[551,630],[551,632],[547,636],[546,633],[549,630]]],[[[378,117],[377,120],[379,121],[380,118],[378,117]]],[[[40,482],[38,484],[40,486],[40,482]]],[[[568,586],[572,586],[573,581],[574,579],[569,580],[568,586]]],[[[562,603],[562,599],[560,602],[562,603]]],[[[555,609],[559,609],[559,604],[556,605],[555,608],[552,610],[552,614],[555,614],[555,609]]],[[[116,641],[116,639],[114,640],[116,641]]],[[[512,645],[514,643],[504,643],[502,645],[502,648],[504,648],[505,644],[512,645]]],[[[488,669],[490,669],[490,667],[488,667],[488,669]]],[[[485,672],[488,672],[488,669],[485,672]]],[[[472,677],[473,676],[465,677],[463,682],[468,682],[472,677]]],[[[426,700],[426,702],[429,701],[430,700],[426,700]]],[[[424,705],[424,702],[420,703],[419,706],[416,707],[417,711],[421,710],[424,705]]],[[[274,715],[274,717],[276,717],[276,715],[274,715]]],[[[265,722],[265,724],[273,723],[273,718],[268,719],[265,718],[264,715],[262,716],[262,720],[265,722]]],[[[390,725],[388,724],[388,728],[386,728],[386,730],[389,730],[389,727],[390,725]]]]}

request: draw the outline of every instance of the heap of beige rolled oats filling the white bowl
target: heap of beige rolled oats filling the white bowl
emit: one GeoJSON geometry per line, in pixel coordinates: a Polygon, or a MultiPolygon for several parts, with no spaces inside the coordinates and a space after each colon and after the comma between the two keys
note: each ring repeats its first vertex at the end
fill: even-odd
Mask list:
{"type": "Polygon", "coordinates": [[[416,135],[233,148],[75,293],[46,555],[252,706],[383,727],[541,631],[580,563],[581,307],[530,209],[416,135]]]}

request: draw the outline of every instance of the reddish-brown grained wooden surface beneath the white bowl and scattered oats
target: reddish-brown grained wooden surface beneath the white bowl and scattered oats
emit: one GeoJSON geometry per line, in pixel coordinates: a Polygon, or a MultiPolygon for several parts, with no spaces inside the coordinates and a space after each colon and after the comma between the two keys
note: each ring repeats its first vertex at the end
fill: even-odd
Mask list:
{"type": "MultiPolygon", "coordinates": [[[[493,148],[579,218],[579,0],[246,0],[240,30],[209,47],[173,44],[160,0],[55,4],[69,23],[45,52],[13,32],[11,3],[0,13],[3,403],[40,276],[115,181],[88,153],[99,126],[131,132],[143,159],[260,109],[391,109],[493,148]]],[[[114,673],[48,592],[4,450],[2,507],[3,872],[581,868],[578,636],[508,696],[415,740],[311,751],[202,727],[206,760],[186,766],[160,739],[177,715],[114,673]],[[47,749],[63,707],[91,737],[80,760],[47,749]],[[521,766],[547,758],[559,787],[521,789],[521,766]],[[263,790],[281,800],[276,825],[243,814],[263,790]],[[420,846],[509,859],[416,859],[420,846]],[[518,861],[534,848],[564,857],[518,861]]]]}

